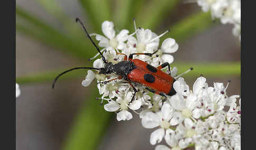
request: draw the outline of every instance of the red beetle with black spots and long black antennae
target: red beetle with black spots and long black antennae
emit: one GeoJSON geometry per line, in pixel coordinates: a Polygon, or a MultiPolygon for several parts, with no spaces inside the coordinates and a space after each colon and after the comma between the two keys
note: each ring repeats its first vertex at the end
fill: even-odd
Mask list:
{"type": "MultiPolygon", "coordinates": [[[[54,88],[54,85],[57,79],[60,76],[62,76],[64,73],[67,73],[69,71],[76,70],[76,69],[94,69],[94,70],[99,70],[99,74],[114,73],[117,76],[117,78],[99,82],[99,83],[106,84],[107,82],[110,82],[116,79],[120,79],[120,80],[123,79],[124,81],[129,83],[134,91],[131,102],[134,100],[136,92],[138,92],[138,90],[136,90],[136,88],[132,83],[139,83],[143,85],[150,92],[162,95],[165,98],[166,98],[166,95],[172,96],[176,93],[176,91],[173,88],[173,83],[176,80],[171,76],[170,64],[168,62],[165,62],[159,67],[155,68],[140,59],[133,59],[134,55],[146,55],[146,56],[152,57],[157,52],[157,50],[153,53],[131,53],[129,57],[127,57],[127,55],[124,53],[117,52],[118,55],[124,55],[124,59],[115,64],[112,62],[107,62],[105,57],[102,55],[102,52],[100,51],[99,47],[96,46],[95,42],[87,33],[87,30],[83,25],[83,23],[81,22],[81,20],[79,18],[76,18],[76,22],[79,22],[81,24],[81,26],[83,27],[86,33],[86,36],[91,40],[92,44],[97,49],[97,51],[99,51],[101,58],[105,63],[105,66],[103,68],[77,67],[77,68],[72,68],[70,70],[66,70],[55,78],[52,84],[52,88],[54,88]],[[161,70],[164,67],[168,67],[169,73],[165,73],[164,71],[161,70]]],[[[156,55],[156,57],[158,57],[158,55],[156,55]]],[[[190,70],[192,69],[193,68],[190,68],[190,70]]]]}

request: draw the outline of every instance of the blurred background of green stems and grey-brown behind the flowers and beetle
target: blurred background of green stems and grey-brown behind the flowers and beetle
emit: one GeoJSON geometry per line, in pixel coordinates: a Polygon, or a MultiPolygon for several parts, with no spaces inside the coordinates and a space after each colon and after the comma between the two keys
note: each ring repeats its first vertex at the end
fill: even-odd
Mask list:
{"type": "Polygon", "coordinates": [[[16,149],[154,149],[152,130],[143,128],[136,114],[118,122],[114,113],[104,111],[96,88],[81,85],[83,70],[63,76],[54,90],[55,76],[72,67],[90,67],[88,58],[96,51],[81,26],[89,33],[101,32],[104,20],[116,29],[133,33],[149,28],[161,38],[174,38],[179,50],[173,53],[172,67],[178,73],[193,67],[184,76],[192,88],[200,74],[209,85],[231,79],[228,95],[240,95],[240,41],[232,25],[214,22],[195,4],[178,0],[16,0],[16,82],[21,96],[16,100],[16,149]]]}

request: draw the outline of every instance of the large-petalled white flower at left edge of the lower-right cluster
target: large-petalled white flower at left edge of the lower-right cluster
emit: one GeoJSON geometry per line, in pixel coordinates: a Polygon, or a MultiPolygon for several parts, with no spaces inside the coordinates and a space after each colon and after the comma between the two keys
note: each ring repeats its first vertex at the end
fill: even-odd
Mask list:
{"type": "Polygon", "coordinates": [[[164,103],[161,111],[153,113],[147,112],[142,118],[142,126],[145,128],[154,128],[160,126],[159,129],[155,130],[150,135],[150,143],[155,145],[156,143],[160,143],[165,135],[165,130],[167,130],[171,124],[170,120],[172,118],[173,110],[171,105],[168,103],[164,103]]]}

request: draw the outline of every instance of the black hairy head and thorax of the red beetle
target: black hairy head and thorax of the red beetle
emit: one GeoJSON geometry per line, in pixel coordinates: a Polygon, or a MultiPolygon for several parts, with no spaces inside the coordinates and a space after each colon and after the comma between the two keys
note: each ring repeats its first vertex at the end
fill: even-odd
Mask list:
{"type": "Polygon", "coordinates": [[[105,67],[99,72],[100,74],[115,73],[117,76],[126,77],[136,66],[131,61],[120,61],[116,64],[106,63],[105,67]]]}

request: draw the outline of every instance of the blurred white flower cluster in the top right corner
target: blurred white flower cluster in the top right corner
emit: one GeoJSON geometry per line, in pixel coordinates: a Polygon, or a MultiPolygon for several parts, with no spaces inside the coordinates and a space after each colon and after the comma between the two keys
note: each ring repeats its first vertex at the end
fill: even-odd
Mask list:
{"type": "Polygon", "coordinates": [[[203,12],[211,11],[212,18],[222,24],[233,24],[233,34],[241,41],[241,0],[198,0],[203,12]]]}

